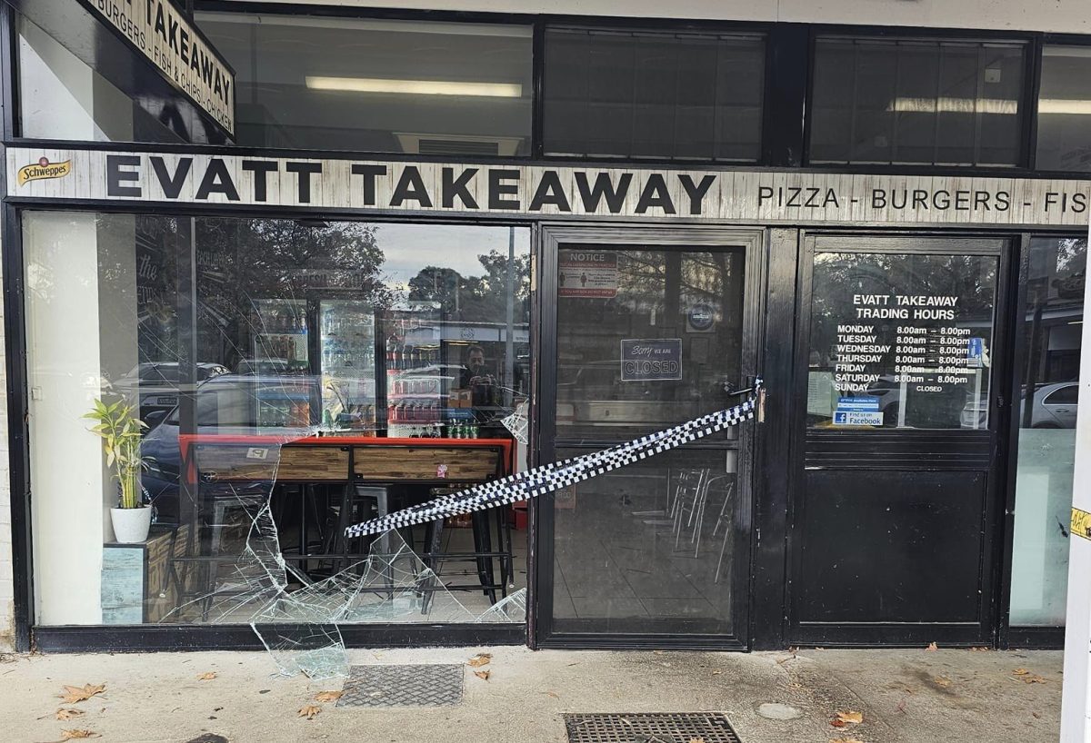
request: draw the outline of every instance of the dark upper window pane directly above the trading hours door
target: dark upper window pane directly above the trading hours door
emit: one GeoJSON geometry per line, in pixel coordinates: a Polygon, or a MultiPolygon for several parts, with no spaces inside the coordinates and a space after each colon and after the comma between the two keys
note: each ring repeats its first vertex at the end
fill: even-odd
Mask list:
{"type": "Polygon", "coordinates": [[[1019,165],[1023,46],[824,38],[812,162],[1019,165]]]}

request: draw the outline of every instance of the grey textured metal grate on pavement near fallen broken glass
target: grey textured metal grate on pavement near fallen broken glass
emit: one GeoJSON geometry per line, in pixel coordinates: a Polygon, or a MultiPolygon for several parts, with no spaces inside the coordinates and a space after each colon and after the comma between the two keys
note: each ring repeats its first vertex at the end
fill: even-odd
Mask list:
{"type": "Polygon", "coordinates": [[[464,675],[460,665],[352,666],[337,706],[451,707],[463,701],[464,675]]]}

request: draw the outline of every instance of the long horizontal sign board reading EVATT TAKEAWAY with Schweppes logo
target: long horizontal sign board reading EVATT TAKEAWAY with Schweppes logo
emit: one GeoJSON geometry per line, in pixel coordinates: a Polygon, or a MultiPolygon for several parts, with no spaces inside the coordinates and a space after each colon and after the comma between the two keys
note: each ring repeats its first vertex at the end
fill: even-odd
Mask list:
{"type": "Polygon", "coordinates": [[[429,212],[672,219],[715,223],[1086,227],[1091,181],[456,165],[257,155],[8,148],[8,195],[429,212]],[[63,176],[19,178],[71,161],[63,176]]]}

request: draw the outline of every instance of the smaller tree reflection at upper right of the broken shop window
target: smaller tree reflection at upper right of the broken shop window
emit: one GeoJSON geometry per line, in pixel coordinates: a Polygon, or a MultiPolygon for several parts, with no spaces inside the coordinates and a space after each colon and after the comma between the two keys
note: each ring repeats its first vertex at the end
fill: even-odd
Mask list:
{"type": "MultiPolygon", "coordinates": [[[[425,266],[409,280],[410,302],[439,302],[443,316],[470,321],[501,321],[507,313],[506,255],[496,251],[478,256],[484,273],[463,276],[453,268],[425,266]]],[[[529,318],[530,256],[515,257],[512,266],[515,289],[515,317],[519,322],[529,318]]]]}

